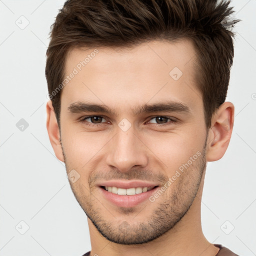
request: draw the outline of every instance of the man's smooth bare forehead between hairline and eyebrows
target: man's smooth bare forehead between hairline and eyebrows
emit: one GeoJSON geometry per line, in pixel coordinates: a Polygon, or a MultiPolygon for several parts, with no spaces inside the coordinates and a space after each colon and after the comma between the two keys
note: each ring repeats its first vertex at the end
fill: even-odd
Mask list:
{"type": "Polygon", "coordinates": [[[74,48],[66,57],[69,80],[61,105],[89,100],[125,108],[124,102],[128,107],[168,99],[198,104],[202,99],[194,61],[195,49],[188,39],[149,41],[132,48],[74,48]]]}

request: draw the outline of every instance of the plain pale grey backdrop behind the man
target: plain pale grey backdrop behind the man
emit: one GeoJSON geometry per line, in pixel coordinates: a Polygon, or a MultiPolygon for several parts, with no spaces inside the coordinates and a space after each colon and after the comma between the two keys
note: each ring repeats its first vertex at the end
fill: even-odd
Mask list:
{"type": "MultiPolygon", "coordinates": [[[[80,256],[90,249],[86,215],[45,126],[45,51],[63,3],[0,0],[0,255],[80,256]]],[[[235,122],[225,155],[207,165],[202,228],[210,242],[251,256],[256,255],[256,0],[232,5],[243,20],[234,29],[226,99],[234,103],[235,122]]]]}

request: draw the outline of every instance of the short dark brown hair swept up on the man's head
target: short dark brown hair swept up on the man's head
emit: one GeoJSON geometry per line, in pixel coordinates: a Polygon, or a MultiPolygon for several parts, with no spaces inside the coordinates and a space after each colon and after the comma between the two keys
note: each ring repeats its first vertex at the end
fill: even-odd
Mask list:
{"type": "Polygon", "coordinates": [[[206,127],[226,98],[233,59],[234,33],[227,26],[234,12],[230,0],[67,0],[51,25],[46,51],[48,93],[60,124],[60,94],[65,60],[74,47],[135,46],[149,40],[192,40],[196,81],[206,127]],[[229,18],[229,20],[228,20],[229,18]],[[199,70],[198,70],[199,69],[199,70]],[[56,91],[55,91],[56,92],[56,91]]]}

